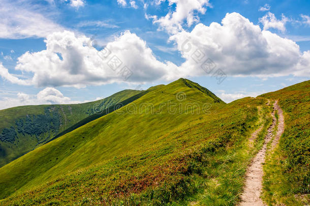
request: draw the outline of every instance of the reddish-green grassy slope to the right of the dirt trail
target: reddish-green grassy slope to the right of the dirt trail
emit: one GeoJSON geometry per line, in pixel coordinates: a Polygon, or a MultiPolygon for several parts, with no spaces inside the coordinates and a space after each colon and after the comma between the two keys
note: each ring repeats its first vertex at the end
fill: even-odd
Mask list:
{"type": "Polygon", "coordinates": [[[279,100],[285,130],[264,167],[269,204],[310,204],[310,81],[261,95],[279,100]]]}

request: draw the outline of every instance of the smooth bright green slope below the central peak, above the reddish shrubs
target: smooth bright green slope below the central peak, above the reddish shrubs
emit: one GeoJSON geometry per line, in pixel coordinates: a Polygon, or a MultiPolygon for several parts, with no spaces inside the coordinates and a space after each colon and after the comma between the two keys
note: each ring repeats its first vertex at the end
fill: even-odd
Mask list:
{"type": "MultiPolygon", "coordinates": [[[[184,116],[191,116],[185,112],[184,114],[177,112],[169,114],[168,104],[179,103],[175,96],[178,92],[187,92],[187,97],[182,102],[184,109],[187,102],[195,101],[201,107],[205,102],[213,102],[211,97],[197,89],[188,87],[183,81],[159,87],[159,89],[140,98],[139,101],[133,102],[132,106],[120,109],[118,112],[112,112],[4,166],[1,171],[8,171],[9,169],[11,170],[8,172],[9,176],[14,172],[17,176],[12,176],[12,179],[9,176],[3,178],[4,184],[1,184],[0,188],[3,188],[5,193],[9,193],[10,190],[5,186],[6,183],[14,187],[11,188],[11,191],[25,184],[36,185],[61,173],[67,173],[70,170],[135,150],[133,145],[136,143],[140,144],[165,134],[165,132],[183,123],[184,116]],[[154,109],[149,106],[152,104],[154,109]],[[161,107],[162,112],[159,112],[158,110],[161,107]],[[158,114],[151,115],[155,112],[158,114]],[[154,126],[156,128],[153,128],[154,126]],[[17,171],[15,166],[19,164],[21,164],[21,168],[17,171]],[[30,168],[34,168],[34,170],[28,173],[30,168]],[[21,180],[20,177],[24,176],[23,172],[28,173],[28,175],[21,180]],[[46,175],[41,175],[43,172],[46,175]],[[38,175],[40,178],[37,178],[38,175]],[[16,184],[12,184],[14,181],[16,184]]],[[[178,105],[171,108],[171,110],[173,109],[178,109],[178,105]]],[[[194,109],[195,107],[193,107],[194,109]]],[[[195,115],[192,116],[195,117],[195,115]]],[[[185,122],[188,123],[188,121],[185,122]]]]}

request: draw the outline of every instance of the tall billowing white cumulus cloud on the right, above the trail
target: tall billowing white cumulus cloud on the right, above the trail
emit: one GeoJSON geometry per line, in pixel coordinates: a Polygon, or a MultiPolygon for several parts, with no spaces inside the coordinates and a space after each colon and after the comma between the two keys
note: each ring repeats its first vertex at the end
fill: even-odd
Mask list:
{"type": "Polygon", "coordinates": [[[233,76],[306,75],[308,52],[269,31],[262,31],[238,13],[228,13],[222,24],[198,24],[192,32],[180,32],[170,38],[185,58],[181,68],[202,75],[202,64],[210,58],[217,68],[233,76]]]}

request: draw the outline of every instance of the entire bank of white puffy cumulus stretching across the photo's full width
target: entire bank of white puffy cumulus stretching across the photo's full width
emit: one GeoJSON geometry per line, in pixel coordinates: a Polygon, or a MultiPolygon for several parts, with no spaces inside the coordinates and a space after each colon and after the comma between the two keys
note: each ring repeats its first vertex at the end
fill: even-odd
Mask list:
{"type": "Polygon", "coordinates": [[[158,61],[146,42],[129,31],[99,51],[83,35],[53,33],[45,40],[45,50],[26,52],[18,58],[15,69],[33,75],[31,78],[20,79],[2,65],[0,75],[23,85],[75,87],[199,75],[221,77],[223,73],[264,78],[310,75],[310,51],[301,52],[294,41],[262,31],[238,13],[227,14],[222,24],[200,23],[192,32],[178,32],[170,41],[185,59],[179,67],[158,61]],[[219,69],[220,73],[214,73],[219,69]]]}

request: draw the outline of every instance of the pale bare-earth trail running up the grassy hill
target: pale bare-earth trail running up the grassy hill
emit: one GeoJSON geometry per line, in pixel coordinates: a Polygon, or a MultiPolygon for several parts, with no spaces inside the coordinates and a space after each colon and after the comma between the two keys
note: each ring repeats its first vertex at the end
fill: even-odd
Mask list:
{"type": "MultiPolygon", "coordinates": [[[[263,180],[263,165],[262,163],[265,162],[265,155],[267,152],[267,144],[272,139],[272,132],[276,125],[276,118],[275,118],[275,110],[278,113],[278,125],[277,131],[275,134],[275,138],[272,142],[272,148],[278,143],[283,131],[284,131],[284,116],[283,111],[278,106],[277,101],[273,104],[273,111],[272,111],[272,124],[267,130],[267,134],[265,136],[265,142],[263,144],[262,149],[257,153],[255,158],[252,160],[250,167],[247,169],[246,178],[245,178],[245,187],[244,191],[241,195],[241,202],[240,205],[265,205],[263,200],[260,198],[262,192],[262,180],[263,180]]],[[[254,132],[255,136],[257,136],[257,131],[254,132]]],[[[252,135],[253,137],[253,135],[252,135]]]]}

